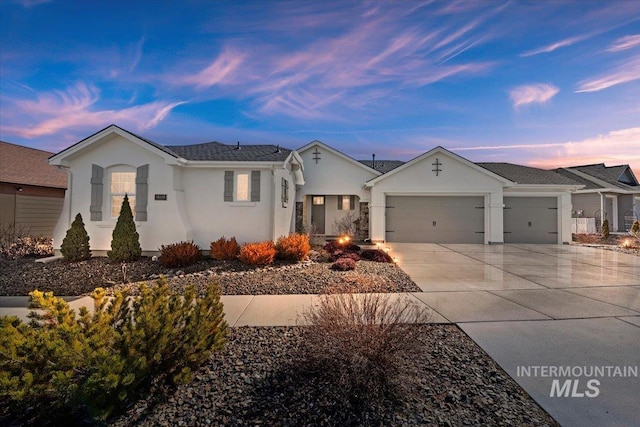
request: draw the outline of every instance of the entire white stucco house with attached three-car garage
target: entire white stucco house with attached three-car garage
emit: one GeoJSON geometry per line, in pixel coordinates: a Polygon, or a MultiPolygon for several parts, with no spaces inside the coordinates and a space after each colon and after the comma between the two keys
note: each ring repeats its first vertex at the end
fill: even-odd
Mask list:
{"type": "Polygon", "coordinates": [[[372,242],[571,241],[571,194],[554,171],[473,163],[442,147],[408,162],[356,160],[320,141],[298,150],[210,142],[163,146],[111,125],[55,154],[68,190],[54,233],[59,250],[81,213],[91,249],[110,249],[125,193],[144,253],[220,236],[240,243],[293,231],[337,234],[354,221],[372,242]]]}

